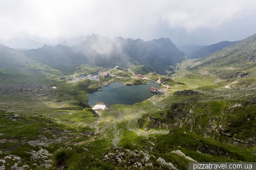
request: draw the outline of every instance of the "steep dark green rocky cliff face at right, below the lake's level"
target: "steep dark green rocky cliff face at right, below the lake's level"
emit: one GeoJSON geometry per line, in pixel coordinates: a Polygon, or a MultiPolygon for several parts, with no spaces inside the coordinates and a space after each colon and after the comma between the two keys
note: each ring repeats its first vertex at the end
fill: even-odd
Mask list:
{"type": "Polygon", "coordinates": [[[183,128],[219,142],[254,147],[256,144],[256,102],[210,101],[175,103],[160,116],[144,115],[138,125],[144,129],[183,128]]]}

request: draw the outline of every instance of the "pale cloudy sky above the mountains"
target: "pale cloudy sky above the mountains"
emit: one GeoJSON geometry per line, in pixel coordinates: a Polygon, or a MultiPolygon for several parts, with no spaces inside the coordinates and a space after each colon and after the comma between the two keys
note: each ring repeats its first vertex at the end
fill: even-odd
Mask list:
{"type": "Polygon", "coordinates": [[[256,34],[255,0],[0,1],[0,38],[99,34],[208,45],[256,34]]]}

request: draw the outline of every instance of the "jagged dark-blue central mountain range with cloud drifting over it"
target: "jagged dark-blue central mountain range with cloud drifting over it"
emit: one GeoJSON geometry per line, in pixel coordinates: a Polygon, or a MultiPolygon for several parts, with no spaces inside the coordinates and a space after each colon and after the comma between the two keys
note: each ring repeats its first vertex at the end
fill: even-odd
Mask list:
{"type": "Polygon", "coordinates": [[[93,34],[87,37],[76,36],[66,42],[79,45],[44,45],[24,52],[29,58],[52,66],[63,74],[71,74],[80,64],[101,67],[129,67],[146,65],[152,70],[165,74],[170,65],[181,63],[185,55],[168,38],[143,41],[141,39],[109,38],[93,34]]]}

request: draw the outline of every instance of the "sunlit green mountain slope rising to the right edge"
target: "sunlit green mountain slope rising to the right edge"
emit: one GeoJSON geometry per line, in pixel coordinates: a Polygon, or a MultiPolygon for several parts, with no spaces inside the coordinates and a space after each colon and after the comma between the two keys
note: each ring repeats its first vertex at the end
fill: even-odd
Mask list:
{"type": "Polygon", "coordinates": [[[233,88],[254,86],[256,35],[229,45],[187,67],[189,71],[214,74],[233,88]],[[243,82],[244,79],[246,80],[243,82]],[[254,85],[253,85],[254,84],[254,85]]]}

